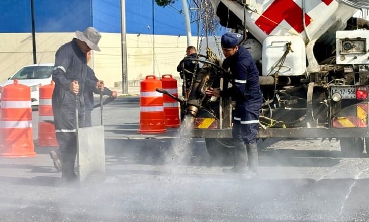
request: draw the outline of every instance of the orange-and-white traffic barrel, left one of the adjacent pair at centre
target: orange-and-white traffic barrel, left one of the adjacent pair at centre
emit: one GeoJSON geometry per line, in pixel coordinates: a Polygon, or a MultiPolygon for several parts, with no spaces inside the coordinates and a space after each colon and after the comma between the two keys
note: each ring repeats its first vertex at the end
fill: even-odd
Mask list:
{"type": "Polygon", "coordinates": [[[140,133],[166,132],[163,95],[155,90],[161,87],[161,81],[154,75],[148,75],[140,82],[140,133]]]}

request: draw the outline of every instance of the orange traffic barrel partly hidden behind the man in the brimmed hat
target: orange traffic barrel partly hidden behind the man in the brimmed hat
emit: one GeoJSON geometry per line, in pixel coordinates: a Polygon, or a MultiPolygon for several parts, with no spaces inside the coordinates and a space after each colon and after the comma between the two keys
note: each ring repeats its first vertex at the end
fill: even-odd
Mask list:
{"type": "Polygon", "coordinates": [[[54,127],[53,109],[51,97],[53,95],[54,82],[40,87],[40,104],[38,106],[38,146],[59,146],[54,127]]]}

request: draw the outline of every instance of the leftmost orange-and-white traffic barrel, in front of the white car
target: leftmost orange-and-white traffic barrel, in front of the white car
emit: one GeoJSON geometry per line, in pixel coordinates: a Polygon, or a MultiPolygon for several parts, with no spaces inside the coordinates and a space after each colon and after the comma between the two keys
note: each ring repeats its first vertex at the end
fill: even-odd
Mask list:
{"type": "Polygon", "coordinates": [[[0,155],[35,156],[30,88],[17,79],[3,87],[0,112],[0,155]]]}

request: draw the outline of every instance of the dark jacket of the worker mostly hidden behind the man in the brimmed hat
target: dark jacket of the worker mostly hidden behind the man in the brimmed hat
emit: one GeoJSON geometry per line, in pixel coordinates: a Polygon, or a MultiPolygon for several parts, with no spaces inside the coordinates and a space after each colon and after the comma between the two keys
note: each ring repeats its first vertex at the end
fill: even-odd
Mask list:
{"type": "MultiPolygon", "coordinates": [[[[95,76],[94,70],[91,69],[91,67],[89,66],[87,66],[87,79],[92,80],[94,82],[99,81],[95,76]]],[[[84,90],[84,105],[85,105],[86,111],[91,111],[94,109],[94,94],[93,93],[100,94],[100,90],[95,87],[95,84],[92,87],[87,86],[84,90]]],[[[104,90],[102,93],[103,95],[107,95],[107,96],[112,95],[112,91],[109,90],[109,88],[107,87],[104,87],[104,90]]]]}

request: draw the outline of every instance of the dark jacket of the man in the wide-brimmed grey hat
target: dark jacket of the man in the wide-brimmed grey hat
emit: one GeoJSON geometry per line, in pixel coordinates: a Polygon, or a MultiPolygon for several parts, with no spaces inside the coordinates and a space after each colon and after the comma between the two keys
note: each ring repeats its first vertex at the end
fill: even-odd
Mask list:
{"type": "Polygon", "coordinates": [[[52,96],[53,106],[64,106],[75,108],[75,95],[70,91],[69,85],[76,80],[79,84],[77,95],[77,108],[83,108],[83,92],[86,86],[95,85],[95,82],[87,79],[87,60],[77,45],[77,39],[73,38],[61,46],[55,54],[55,64],[52,79],[55,88],[52,96]]]}

